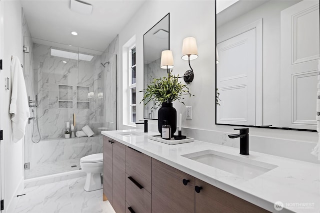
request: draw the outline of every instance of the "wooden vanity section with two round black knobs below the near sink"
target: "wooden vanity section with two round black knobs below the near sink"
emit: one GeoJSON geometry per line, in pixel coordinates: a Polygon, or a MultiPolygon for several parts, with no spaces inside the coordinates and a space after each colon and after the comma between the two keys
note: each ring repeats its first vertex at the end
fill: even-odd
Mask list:
{"type": "Polygon", "coordinates": [[[268,211],[152,159],[152,213],[177,212],[267,213],[268,211]]]}

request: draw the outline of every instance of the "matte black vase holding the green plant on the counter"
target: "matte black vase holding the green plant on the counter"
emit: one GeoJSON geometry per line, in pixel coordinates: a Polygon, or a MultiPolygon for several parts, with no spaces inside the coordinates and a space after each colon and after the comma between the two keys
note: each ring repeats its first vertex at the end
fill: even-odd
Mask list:
{"type": "Polygon", "coordinates": [[[158,110],[158,131],[162,137],[163,120],[167,120],[171,126],[171,138],[176,131],[176,110],[172,107],[172,103],[163,102],[162,107],[158,110]]]}

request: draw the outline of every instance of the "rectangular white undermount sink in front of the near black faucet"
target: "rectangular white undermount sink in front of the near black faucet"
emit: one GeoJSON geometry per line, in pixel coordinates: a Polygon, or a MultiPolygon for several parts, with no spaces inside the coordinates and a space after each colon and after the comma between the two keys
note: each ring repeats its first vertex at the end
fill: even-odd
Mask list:
{"type": "Polygon", "coordinates": [[[277,167],[273,164],[214,150],[204,150],[181,156],[223,170],[245,180],[255,178],[277,167]]]}

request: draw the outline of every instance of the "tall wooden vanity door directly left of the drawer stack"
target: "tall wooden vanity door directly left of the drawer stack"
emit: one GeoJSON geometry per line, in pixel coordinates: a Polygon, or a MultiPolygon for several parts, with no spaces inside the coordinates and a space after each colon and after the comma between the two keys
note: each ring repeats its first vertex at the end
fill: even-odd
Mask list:
{"type": "Polygon", "coordinates": [[[125,212],[125,146],[112,144],[112,207],[116,213],[125,212]]]}

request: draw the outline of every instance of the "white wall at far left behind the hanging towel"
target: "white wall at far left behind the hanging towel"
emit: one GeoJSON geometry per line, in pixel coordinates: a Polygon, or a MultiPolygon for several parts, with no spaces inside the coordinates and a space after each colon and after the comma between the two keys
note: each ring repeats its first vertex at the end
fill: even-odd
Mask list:
{"type": "MultiPolygon", "coordinates": [[[[22,37],[21,37],[21,4],[20,1],[1,1],[3,5],[3,70],[2,77],[10,76],[11,55],[16,55],[22,61],[22,37]]],[[[3,143],[4,143],[4,181],[5,181],[5,210],[6,213],[14,211],[16,205],[16,195],[23,190],[23,153],[22,143],[20,140],[17,143],[12,141],[11,120],[9,114],[9,105],[11,97],[10,90],[4,90],[1,86],[1,122],[3,128],[3,143]],[[2,96],[3,94],[3,96],[2,96]]]]}

